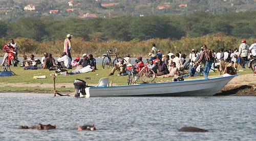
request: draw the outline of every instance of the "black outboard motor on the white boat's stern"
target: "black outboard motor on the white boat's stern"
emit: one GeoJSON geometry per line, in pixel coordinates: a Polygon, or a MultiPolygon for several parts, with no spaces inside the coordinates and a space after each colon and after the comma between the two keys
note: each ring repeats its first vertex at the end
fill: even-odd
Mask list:
{"type": "Polygon", "coordinates": [[[75,86],[75,97],[78,98],[81,95],[86,95],[86,81],[83,81],[81,79],[76,79],[74,81],[74,86],[75,86]]]}

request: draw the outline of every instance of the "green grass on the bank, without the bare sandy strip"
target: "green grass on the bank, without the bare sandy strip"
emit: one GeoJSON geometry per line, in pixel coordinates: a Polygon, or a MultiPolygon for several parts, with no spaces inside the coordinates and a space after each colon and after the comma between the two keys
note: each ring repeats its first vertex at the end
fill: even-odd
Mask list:
{"type": "MultiPolygon", "coordinates": [[[[23,67],[10,67],[11,70],[16,74],[16,76],[11,77],[1,77],[0,83],[28,83],[33,85],[33,83],[44,83],[44,84],[52,84],[53,80],[50,76],[51,73],[54,73],[54,71],[50,71],[48,69],[37,69],[37,70],[24,70],[23,67]],[[33,79],[33,76],[42,76],[46,75],[46,79],[33,79]]],[[[118,73],[115,73],[113,76],[109,76],[111,72],[111,68],[109,69],[103,69],[100,65],[98,66],[98,70],[95,72],[90,73],[84,73],[84,74],[75,74],[75,75],[68,75],[68,76],[57,76],[56,77],[56,83],[73,83],[75,79],[82,79],[87,82],[88,85],[90,84],[98,84],[98,81],[100,78],[106,77],[109,78],[109,82],[113,82],[113,84],[117,85],[125,85],[127,81],[127,76],[117,76],[118,73]],[[86,79],[91,78],[91,79],[86,79]]],[[[242,68],[239,68],[242,69],[242,68]]],[[[238,72],[238,75],[245,75],[245,74],[251,74],[252,70],[249,68],[243,69],[243,72],[238,72]]],[[[71,70],[69,70],[71,71],[71,70]]],[[[218,76],[219,72],[216,73],[210,73],[209,76],[218,76]]],[[[191,78],[185,78],[185,79],[196,79],[200,77],[191,77],[191,78]]],[[[201,77],[202,78],[202,77],[201,77]]],[[[154,81],[171,81],[172,78],[156,78],[154,81]]],[[[38,90],[38,91],[49,91],[52,90],[51,88],[41,88],[41,87],[1,87],[0,91],[10,91],[10,90],[16,90],[16,91],[30,91],[30,90],[38,90]]],[[[64,90],[64,89],[70,89],[74,90],[73,88],[57,88],[58,90],[64,90]]]]}

